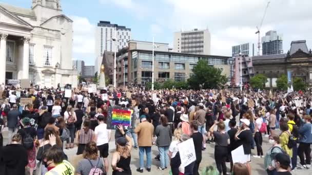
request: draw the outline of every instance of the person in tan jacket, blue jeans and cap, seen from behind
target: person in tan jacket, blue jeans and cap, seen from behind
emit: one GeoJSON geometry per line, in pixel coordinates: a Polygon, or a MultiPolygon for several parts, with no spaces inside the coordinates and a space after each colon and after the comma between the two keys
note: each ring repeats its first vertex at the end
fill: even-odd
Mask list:
{"type": "Polygon", "coordinates": [[[135,127],[134,132],[138,134],[140,167],[136,171],[143,173],[144,168],[144,152],[146,152],[146,170],[151,171],[151,146],[154,126],[147,121],[145,115],[140,116],[141,123],[135,127]]]}

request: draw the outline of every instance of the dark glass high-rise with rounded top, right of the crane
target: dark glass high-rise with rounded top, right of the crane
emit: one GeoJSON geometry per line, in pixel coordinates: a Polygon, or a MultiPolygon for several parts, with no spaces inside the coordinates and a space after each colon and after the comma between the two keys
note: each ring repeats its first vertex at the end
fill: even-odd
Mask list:
{"type": "Polygon", "coordinates": [[[270,30],[262,37],[262,55],[282,54],[283,35],[270,30]]]}

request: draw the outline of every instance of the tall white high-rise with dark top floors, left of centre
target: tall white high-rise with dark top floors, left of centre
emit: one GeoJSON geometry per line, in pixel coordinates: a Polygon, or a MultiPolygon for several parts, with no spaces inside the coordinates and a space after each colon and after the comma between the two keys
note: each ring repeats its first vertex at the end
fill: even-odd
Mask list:
{"type": "Polygon", "coordinates": [[[116,52],[127,47],[127,42],[131,39],[131,29],[125,26],[110,24],[109,21],[100,21],[95,29],[95,55],[103,56],[104,51],[114,52],[114,41],[116,32],[116,52]],[[116,31],[115,31],[116,30],[116,31]]]}

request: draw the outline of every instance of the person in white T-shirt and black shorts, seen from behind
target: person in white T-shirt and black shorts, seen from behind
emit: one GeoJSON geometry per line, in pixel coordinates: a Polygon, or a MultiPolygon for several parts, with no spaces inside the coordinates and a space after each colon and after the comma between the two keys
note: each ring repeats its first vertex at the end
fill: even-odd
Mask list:
{"type": "Polygon", "coordinates": [[[97,117],[97,121],[99,125],[94,129],[94,141],[96,142],[96,146],[100,151],[100,157],[104,158],[104,167],[105,172],[108,173],[109,161],[108,157],[108,143],[111,137],[111,130],[107,129],[107,124],[104,123],[104,116],[99,115],[97,117]]]}

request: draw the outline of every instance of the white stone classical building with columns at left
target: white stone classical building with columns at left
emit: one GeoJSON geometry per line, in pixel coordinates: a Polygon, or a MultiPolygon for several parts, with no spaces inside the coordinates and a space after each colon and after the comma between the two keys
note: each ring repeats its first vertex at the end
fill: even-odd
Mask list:
{"type": "Polygon", "coordinates": [[[0,3],[0,84],[29,79],[41,88],[77,86],[72,66],[73,21],[60,0],[32,0],[21,8],[0,3]]]}

